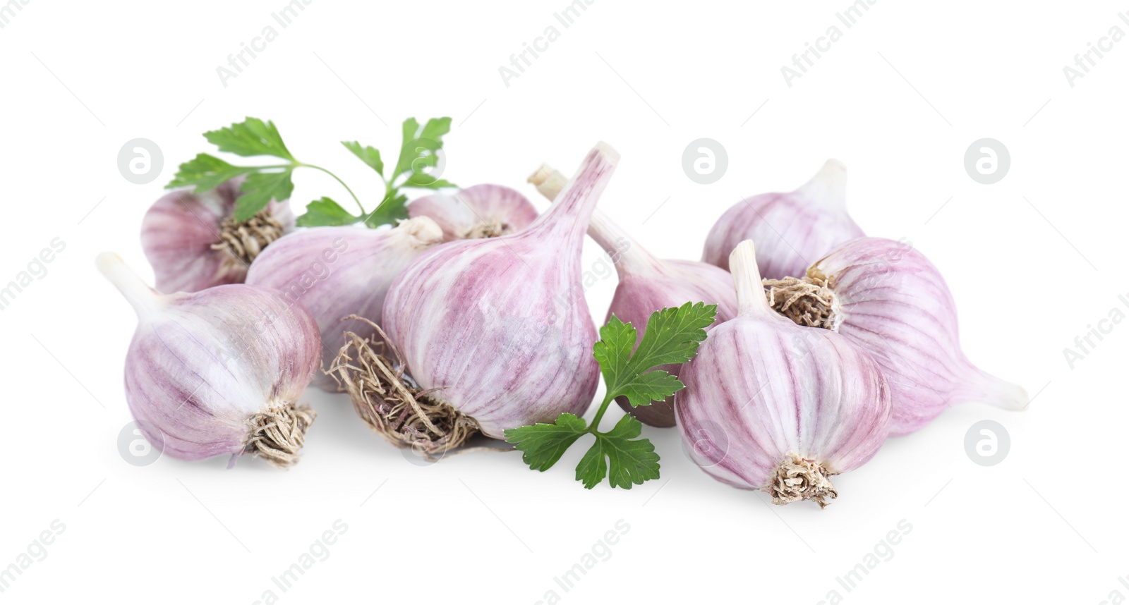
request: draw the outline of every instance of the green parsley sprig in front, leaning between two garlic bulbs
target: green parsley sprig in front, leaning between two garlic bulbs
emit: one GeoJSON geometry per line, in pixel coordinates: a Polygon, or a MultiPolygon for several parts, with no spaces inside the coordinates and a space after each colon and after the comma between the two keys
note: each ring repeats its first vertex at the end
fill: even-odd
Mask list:
{"type": "Polygon", "coordinates": [[[613,488],[631,489],[645,481],[658,479],[659,457],[648,439],[640,439],[642,423],[624,414],[611,430],[601,431],[612,400],[624,396],[632,407],[650,405],[681,391],[685,385],[665,370],[654,369],[666,363],[685,363],[698,353],[706,340],[706,328],[714,323],[717,305],[686,302],[681,307],[657,310],[647,319],[642,340],[636,347],[638,333],[614,315],[599,328],[599,342],[593,357],[599,362],[606,394],[592,424],[575,414],[563,413],[552,424],[531,424],[506,431],[506,440],[523,451],[522,461],[535,471],[548,471],[580,437],[593,435],[595,442],[580,458],[576,480],[592,489],[604,477],[613,488]]]}

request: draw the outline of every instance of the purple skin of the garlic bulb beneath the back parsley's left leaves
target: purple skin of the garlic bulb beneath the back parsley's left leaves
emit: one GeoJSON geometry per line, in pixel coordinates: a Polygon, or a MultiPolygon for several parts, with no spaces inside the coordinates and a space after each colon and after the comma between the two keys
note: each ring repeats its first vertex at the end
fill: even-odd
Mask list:
{"type": "MultiPolygon", "coordinates": [[[[243,283],[247,266],[225,251],[211,249],[220,223],[235,211],[243,178],[225,181],[213,191],[178,190],[165,194],[141,221],[141,247],[152,265],[157,290],[198,292],[222,283],[243,283]]],[[[294,212],[287,201],[271,202],[274,218],[290,230],[294,212]]]]}

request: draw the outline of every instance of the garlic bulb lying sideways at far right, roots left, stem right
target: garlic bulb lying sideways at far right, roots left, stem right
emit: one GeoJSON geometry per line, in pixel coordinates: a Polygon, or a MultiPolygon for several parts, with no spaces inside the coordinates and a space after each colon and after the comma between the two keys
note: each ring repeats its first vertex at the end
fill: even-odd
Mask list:
{"type": "Polygon", "coordinates": [[[1026,407],[1022,387],[964,357],[953,295],[937,268],[908,244],[855,239],[800,274],[765,280],[773,308],[797,323],[835,330],[874,358],[892,393],[891,435],[911,433],[957,403],[1026,407]]]}

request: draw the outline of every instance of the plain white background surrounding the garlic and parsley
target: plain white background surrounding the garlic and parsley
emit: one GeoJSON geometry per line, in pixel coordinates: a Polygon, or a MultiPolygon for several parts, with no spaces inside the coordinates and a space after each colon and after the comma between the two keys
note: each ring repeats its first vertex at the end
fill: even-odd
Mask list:
{"type": "MultiPolygon", "coordinates": [[[[1129,293],[1129,42],[1074,87],[1062,73],[1087,42],[1129,32],[1124,2],[881,0],[849,29],[834,17],[847,0],[595,0],[567,29],[553,18],[566,0],[313,0],[282,29],[271,14],[285,3],[29,0],[0,29],[0,282],[52,238],[67,244],[0,312],[0,567],[52,520],[65,524],[0,600],[253,603],[266,589],[280,603],[536,603],[549,590],[563,603],[819,603],[832,589],[844,603],[1129,595],[1119,582],[1129,575],[1129,327],[1074,369],[1062,352],[1129,293]],[[216,68],[266,25],[278,38],[221,85],[216,68]],[[499,67],[550,25],[560,38],[506,86],[499,67]],[[788,87],[781,65],[831,25],[842,38],[788,87]],[[246,115],[273,120],[299,159],[331,167],[368,204],[377,182],[338,141],[387,157],[409,116],[454,119],[445,177],[519,187],[540,208],[525,176],[542,161],[571,173],[605,140],[623,159],[601,208],[645,247],[681,258],[699,257],[709,226],[741,198],[791,190],[837,157],[864,229],[909,238],[943,271],[969,357],[1036,396],[1023,413],[970,404],[890,440],[835,479],[826,510],[715,482],[673,430],[646,430],[663,476],[630,491],[575,482],[580,447],[546,473],[516,454],[420,466],[344,396],[313,391],[320,418],[289,472],[250,458],[230,471],[220,458],[131,466],[116,440],[130,421],[122,360],[134,316],[93,260],[113,249],[151,277],[143,211],[178,163],[212,151],[203,131],[246,115]],[[147,185],[116,167],[138,137],[165,157],[147,185]],[[681,168],[702,137],[728,151],[712,185],[681,168]],[[1012,155],[995,185],[963,168],[983,137],[1012,155]],[[1010,435],[997,466],[965,454],[965,431],[984,419],[1010,435]],[[336,519],[348,529],[330,556],[278,590],[272,576],[336,519]],[[619,519],[630,531],[611,558],[563,591],[553,578],[619,519]],[[912,531],[893,558],[846,591],[835,578],[902,519],[912,531]]],[[[299,205],[343,198],[323,175],[296,182],[299,205]]],[[[597,318],[614,287],[589,291],[597,318]]]]}

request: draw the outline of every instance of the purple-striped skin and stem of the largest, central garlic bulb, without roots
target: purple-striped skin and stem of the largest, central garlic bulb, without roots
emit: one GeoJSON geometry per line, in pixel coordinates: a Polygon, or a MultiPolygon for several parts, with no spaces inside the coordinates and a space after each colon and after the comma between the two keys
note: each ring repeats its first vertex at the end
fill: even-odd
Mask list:
{"type": "Polygon", "coordinates": [[[598,336],[584,299],[580,251],[618,160],[597,144],[525,230],[437,246],[388,290],[383,327],[408,372],[489,437],[563,412],[580,415],[592,403],[598,336]]]}

